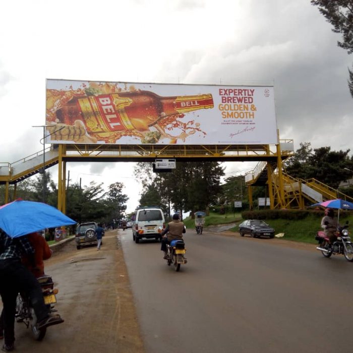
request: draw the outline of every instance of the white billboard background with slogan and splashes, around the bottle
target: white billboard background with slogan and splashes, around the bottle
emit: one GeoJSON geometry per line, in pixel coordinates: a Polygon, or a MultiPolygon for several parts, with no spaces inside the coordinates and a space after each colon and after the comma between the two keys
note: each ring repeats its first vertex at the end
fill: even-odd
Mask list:
{"type": "MultiPolygon", "coordinates": [[[[46,125],[61,123],[52,118],[52,113],[61,106],[60,101],[48,98],[48,92],[61,91],[62,96],[86,87],[115,87],[123,92],[138,90],[150,91],[161,97],[195,96],[211,94],[213,107],[185,112],[177,121],[182,124],[170,124],[162,129],[162,134],[155,143],[161,145],[203,145],[203,144],[276,144],[277,124],[272,86],[217,86],[185,84],[151,84],[124,82],[88,82],[51,80],[46,82],[47,110],[46,125]],[[50,104],[49,104],[49,103],[50,104]],[[51,114],[51,117],[50,117],[51,114]],[[175,125],[179,125],[175,126],[175,125]],[[182,128],[180,128],[182,126],[182,128]],[[164,134],[165,133],[165,134],[164,134]]],[[[98,93],[99,94],[99,93],[98,93]]],[[[158,124],[158,123],[157,123],[158,124]]],[[[157,125],[156,124],[156,125],[157,125]]],[[[149,127],[148,133],[161,132],[157,126],[149,127]]],[[[97,144],[146,144],[141,133],[134,136],[112,135],[110,140],[100,139],[95,135],[97,144]]],[[[88,135],[90,135],[88,133],[88,135]]],[[[47,143],[87,143],[70,139],[47,137],[47,143]]]]}

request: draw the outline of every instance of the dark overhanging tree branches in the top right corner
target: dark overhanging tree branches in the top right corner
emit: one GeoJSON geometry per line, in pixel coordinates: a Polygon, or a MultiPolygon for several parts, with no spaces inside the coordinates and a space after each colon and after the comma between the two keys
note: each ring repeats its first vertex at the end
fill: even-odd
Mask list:
{"type": "MultiPolygon", "coordinates": [[[[352,0],[311,0],[311,4],[318,6],[319,11],[333,26],[332,31],[342,33],[343,41],[337,45],[348,54],[353,53],[353,2],[352,0]]],[[[348,87],[353,97],[353,71],[349,70],[348,87]]]]}

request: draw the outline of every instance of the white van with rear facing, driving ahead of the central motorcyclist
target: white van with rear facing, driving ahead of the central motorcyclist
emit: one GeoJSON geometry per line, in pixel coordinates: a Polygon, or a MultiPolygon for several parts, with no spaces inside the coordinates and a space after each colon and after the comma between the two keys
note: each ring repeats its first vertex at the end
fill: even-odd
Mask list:
{"type": "Polygon", "coordinates": [[[165,220],[160,208],[144,207],[136,210],[132,226],[135,243],[139,243],[142,238],[155,238],[160,241],[160,233],[164,228],[165,220]]]}

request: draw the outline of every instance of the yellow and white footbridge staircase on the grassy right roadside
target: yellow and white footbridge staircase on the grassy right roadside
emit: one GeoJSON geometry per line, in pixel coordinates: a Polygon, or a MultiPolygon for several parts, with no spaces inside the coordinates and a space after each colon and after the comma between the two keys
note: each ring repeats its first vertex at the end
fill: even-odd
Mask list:
{"type": "MultiPolygon", "coordinates": [[[[304,209],[308,203],[306,200],[311,204],[336,198],[353,202],[350,196],[316,179],[295,179],[283,171],[280,173],[271,162],[259,162],[254,170],[245,175],[245,181],[249,190],[253,186],[268,187],[271,208],[304,209]]],[[[249,194],[252,195],[252,192],[249,194]]]]}

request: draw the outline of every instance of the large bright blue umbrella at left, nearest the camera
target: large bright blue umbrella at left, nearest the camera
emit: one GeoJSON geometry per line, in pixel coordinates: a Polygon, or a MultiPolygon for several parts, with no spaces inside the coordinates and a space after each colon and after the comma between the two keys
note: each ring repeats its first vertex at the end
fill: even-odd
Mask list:
{"type": "Polygon", "coordinates": [[[55,207],[42,202],[19,199],[0,207],[0,228],[12,238],[76,223],[55,207]]]}

